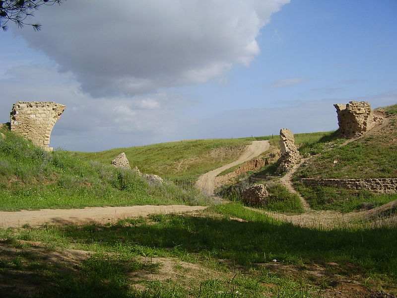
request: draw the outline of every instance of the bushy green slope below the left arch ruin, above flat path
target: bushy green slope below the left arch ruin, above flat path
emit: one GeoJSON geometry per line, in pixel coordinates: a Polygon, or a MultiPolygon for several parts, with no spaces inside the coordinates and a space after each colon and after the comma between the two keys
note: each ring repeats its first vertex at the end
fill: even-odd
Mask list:
{"type": "Polygon", "coordinates": [[[150,186],[129,170],[85,161],[62,150],[44,152],[2,129],[0,210],[203,204],[190,185],[150,186]]]}

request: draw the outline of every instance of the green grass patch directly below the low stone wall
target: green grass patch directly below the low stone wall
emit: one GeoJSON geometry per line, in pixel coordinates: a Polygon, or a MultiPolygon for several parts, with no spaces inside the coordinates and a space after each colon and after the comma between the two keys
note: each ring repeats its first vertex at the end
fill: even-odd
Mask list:
{"type": "Polygon", "coordinates": [[[307,187],[295,183],[295,187],[315,210],[351,212],[372,209],[397,200],[397,194],[374,194],[366,190],[352,190],[336,187],[307,187]]]}

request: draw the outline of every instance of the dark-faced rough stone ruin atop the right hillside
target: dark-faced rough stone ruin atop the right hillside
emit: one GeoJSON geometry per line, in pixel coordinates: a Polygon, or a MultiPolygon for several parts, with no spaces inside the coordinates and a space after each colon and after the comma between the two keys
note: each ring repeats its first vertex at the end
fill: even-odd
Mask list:
{"type": "Polygon", "coordinates": [[[377,117],[371,106],[365,101],[350,101],[348,104],[334,104],[338,116],[338,125],[340,134],[346,138],[356,138],[376,124],[377,117]]]}

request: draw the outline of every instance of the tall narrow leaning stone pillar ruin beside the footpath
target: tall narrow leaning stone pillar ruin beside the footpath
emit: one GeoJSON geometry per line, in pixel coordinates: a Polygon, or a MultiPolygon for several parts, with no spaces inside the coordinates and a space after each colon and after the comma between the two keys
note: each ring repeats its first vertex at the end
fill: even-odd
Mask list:
{"type": "Polygon", "coordinates": [[[278,159],[277,172],[283,173],[289,171],[301,159],[295,146],[294,135],[289,129],[282,128],[280,130],[280,148],[281,157],[278,159]]]}

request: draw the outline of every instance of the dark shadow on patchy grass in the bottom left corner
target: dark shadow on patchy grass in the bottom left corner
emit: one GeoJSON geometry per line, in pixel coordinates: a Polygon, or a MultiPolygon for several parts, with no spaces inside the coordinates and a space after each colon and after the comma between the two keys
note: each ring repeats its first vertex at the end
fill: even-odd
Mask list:
{"type": "Polygon", "coordinates": [[[128,274],[151,266],[118,256],[15,248],[6,241],[0,252],[0,297],[7,298],[143,297],[128,287],[128,274]]]}

